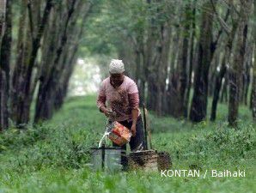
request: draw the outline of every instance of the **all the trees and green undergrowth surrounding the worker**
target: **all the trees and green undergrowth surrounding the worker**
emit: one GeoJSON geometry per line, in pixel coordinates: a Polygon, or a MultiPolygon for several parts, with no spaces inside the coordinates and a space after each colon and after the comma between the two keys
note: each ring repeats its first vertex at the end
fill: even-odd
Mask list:
{"type": "Polygon", "coordinates": [[[255,37],[255,0],[1,0],[0,192],[255,192],[255,37]],[[95,93],[66,96],[112,58],[172,169],[246,177],[90,171],[107,119],[95,93]]]}

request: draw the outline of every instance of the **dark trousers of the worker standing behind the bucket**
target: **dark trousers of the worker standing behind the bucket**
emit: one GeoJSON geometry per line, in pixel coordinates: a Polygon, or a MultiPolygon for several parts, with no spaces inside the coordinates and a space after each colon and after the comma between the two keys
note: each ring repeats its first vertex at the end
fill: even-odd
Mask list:
{"type": "MultiPolygon", "coordinates": [[[[123,124],[125,127],[127,127],[129,130],[131,130],[132,121],[128,122],[126,121],[120,121],[120,124],[123,124]]],[[[129,142],[131,151],[134,150],[142,150],[145,149],[145,135],[143,130],[143,120],[142,117],[139,116],[137,118],[137,124],[136,124],[136,136],[131,136],[131,141],[129,142]]],[[[119,145],[115,144],[113,142],[113,147],[119,147],[119,145]]],[[[127,158],[126,158],[126,144],[121,147],[123,150],[123,154],[121,156],[121,163],[123,166],[127,166],[127,158]]]]}

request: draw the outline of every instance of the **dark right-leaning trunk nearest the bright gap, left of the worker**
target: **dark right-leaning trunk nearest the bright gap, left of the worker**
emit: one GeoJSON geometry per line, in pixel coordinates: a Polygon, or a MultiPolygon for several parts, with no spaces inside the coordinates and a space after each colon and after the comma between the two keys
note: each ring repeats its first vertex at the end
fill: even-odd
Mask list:
{"type": "MultiPolygon", "coordinates": [[[[82,35],[82,32],[78,35],[76,34],[76,21],[78,16],[82,13],[82,8],[84,8],[82,6],[82,1],[73,0],[73,2],[70,3],[67,16],[64,19],[64,26],[60,28],[61,32],[58,35],[60,43],[58,44],[57,50],[54,52],[55,56],[51,67],[46,75],[41,75],[40,88],[36,102],[35,122],[52,118],[54,108],[62,104],[61,101],[58,103],[56,98],[59,97],[59,100],[64,99],[65,94],[62,92],[66,88],[62,89],[63,81],[61,81],[61,77],[65,68],[68,68],[67,65],[73,65],[73,63],[67,63],[67,61],[70,61],[69,56],[75,54],[72,53],[73,51],[70,51],[69,46],[72,45],[71,42],[74,41],[77,36],[80,37],[82,35]],[[59,91],[60,93],[57,93],[56,91],[59,91]]],[[[86,5],[86,11],[82,22],[85,22],[91,8],[91,3],[86,5]]],[[[74,49],[74,51],[76,51],[76,49],[74,49]]]]}

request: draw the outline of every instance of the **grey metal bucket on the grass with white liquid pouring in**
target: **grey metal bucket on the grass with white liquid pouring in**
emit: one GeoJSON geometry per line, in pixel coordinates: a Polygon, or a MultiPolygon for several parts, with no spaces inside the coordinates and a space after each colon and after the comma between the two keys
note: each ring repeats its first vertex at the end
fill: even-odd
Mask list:
{"type": "Polygon", "coordinates": [[[121,165],[120,147],[105,148],[91,148],[91,167],[94,171],[120,171],[121,165]]]}

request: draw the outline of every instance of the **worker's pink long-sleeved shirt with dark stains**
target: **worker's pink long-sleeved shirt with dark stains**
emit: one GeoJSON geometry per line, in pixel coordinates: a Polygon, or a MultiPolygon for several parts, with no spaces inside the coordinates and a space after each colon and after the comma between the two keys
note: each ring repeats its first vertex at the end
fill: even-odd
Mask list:
{"type": "Polygon", "coordinates": [[[116,88],[111,85],[110,77],[101,82],[97,106],[106,106],[106,101],[107,106],[117,113],[117,121],[131,121],[132,109],[137,109],[140,115],[137,85],[126,75],[122,84],[116,88]]]}

